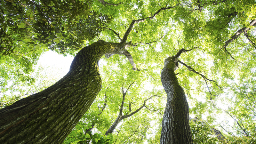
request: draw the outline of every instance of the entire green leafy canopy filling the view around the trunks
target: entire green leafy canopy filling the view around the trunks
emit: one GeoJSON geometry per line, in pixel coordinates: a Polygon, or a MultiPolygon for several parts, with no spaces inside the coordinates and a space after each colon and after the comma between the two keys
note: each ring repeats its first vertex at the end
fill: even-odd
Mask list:
{"type": "Polygon", "coordinates": [[[0,4],[1,108],[60,78],[33,67],[42,53],[76,55],[98,40],[118,43],[133,20],[146,19],[136,23],[127,38],[132,46],[126,50],[138,70],[132,70],[124,55],[102,57],[101,91],[64,144],[160,143],[166,105],[161,70],[164,60],[182,48],[189,51],[180,56],[175,73],[187,96],[189,116],[199,120],[190,120],[194,143],[255,143],[255,1],[1,0],[0,4]],[[128,116],[142,106],[105,135],[121,109],[128,116]],[[223,135],[221,139],[213,128],[223,135]]]}

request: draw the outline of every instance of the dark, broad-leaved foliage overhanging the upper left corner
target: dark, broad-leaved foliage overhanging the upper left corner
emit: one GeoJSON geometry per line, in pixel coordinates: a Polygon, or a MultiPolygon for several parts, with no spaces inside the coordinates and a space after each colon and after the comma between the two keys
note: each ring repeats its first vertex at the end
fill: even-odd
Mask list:
{"type": "Polygon", "coordinates": [[[82,1],[1,1],[0,52],[20,57],[45,44],[58,53],[74,54],[86,40],[93,40],[105,30],[109,16],[92,11],[90,0],[82,1]]]}

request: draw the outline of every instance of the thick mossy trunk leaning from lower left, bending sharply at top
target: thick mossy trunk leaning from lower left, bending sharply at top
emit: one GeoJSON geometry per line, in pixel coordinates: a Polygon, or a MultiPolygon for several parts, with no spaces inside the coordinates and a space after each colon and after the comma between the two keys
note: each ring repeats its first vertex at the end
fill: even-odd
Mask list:
{"type": "Polygon", "coordinates": [[[84,47],[57,83],[1,109],[0,143],[62,143],[100,92],[101,56],[120,53],[127,46],[97,41],[84,47]]]}

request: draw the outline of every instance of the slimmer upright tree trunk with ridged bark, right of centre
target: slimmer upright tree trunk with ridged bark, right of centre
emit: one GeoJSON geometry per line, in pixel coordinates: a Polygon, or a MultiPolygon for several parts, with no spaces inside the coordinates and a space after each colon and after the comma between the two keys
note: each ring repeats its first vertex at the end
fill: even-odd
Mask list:
{"type": "MultiPolygon", "coordinates": [[[[180,52],[180,51],[179,51],[180,52]]],[[[178,53],[179,53],[178,52],[178,53]]],[[[160,144],[193,144],[189,127],[188,102],[174,70],[178,68],[179,53],[164,61],[161,81],[167,93],[160,144]]]]}

